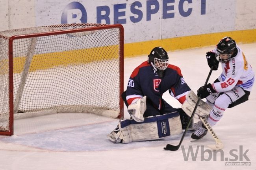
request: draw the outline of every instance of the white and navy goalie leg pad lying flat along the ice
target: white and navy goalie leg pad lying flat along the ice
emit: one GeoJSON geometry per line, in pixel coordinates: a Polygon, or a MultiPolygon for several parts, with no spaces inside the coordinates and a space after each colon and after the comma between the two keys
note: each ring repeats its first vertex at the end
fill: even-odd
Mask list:
{"type": "Polygon", "coordinates": [[[122,143],[133,141],[148,141],[180,134],[182,125],[178,112],[145,118],[144,122],[132,119],[121,121],[119,124],[119,138],[122,143]]]}

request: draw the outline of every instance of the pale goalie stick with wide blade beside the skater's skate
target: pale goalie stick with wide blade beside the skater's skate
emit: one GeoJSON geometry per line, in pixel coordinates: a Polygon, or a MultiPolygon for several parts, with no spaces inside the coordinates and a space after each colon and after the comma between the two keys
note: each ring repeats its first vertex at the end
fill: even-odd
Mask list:
{"type": "Polygon", "coordinates": [[[221,140],[217,137],[213,129],[211,128],[210,124],[207,122],[207,120],[204,117],[200,117],[200,120],[203,122],[204,126],[208,129],[208,131],[211,133],[211,136],[215,140],[215,144],[208,145],[209,148],[213,150],[218,150],[223,148],[223,143],[221,140]]]}

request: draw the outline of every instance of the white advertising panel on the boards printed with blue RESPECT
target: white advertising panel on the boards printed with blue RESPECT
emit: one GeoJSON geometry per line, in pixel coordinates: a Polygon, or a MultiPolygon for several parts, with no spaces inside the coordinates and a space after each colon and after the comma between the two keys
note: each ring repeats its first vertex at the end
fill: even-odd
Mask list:
{"type": "Polygon", "coordinates": [[[233,31],[236,4],[235,0],[46,0],[35,2],[35,21],[36,26],[122,24],[125,43],[130,43],[233,31]]]}

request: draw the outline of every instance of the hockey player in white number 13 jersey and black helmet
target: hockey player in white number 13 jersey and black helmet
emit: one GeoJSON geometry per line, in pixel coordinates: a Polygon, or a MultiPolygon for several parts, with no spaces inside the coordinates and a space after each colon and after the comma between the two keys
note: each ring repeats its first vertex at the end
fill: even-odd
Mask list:
{"type": "MultiPolygon", "coordinates": [[[[208,66],[217,70],[219,62],[223,69],[213,84],[207,84],[197,90],[201,99],[212,106],[208,122],[215,125],[227,108],[232,108],[248,100],[254,84],[254,72],[247,62],[242,50],[231,37],[224,37],[215,49],[206,53],[208,66]]],[[[192,139],[200,139],[206,135],[207,129],[202,125],[194,133],[192,139]]]]}

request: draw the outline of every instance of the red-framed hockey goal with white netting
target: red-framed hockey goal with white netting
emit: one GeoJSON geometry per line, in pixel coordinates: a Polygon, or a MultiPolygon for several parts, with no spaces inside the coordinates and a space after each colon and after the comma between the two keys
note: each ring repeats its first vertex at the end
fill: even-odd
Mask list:
{"type": "Polygon", "coordinates": [[[0,135],[13,119],[63,112],[123,118],[123,27],[61,24],[0,32],[0,135]]]}

